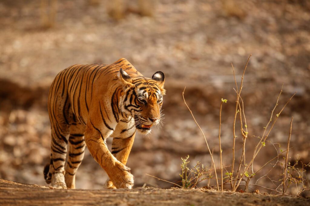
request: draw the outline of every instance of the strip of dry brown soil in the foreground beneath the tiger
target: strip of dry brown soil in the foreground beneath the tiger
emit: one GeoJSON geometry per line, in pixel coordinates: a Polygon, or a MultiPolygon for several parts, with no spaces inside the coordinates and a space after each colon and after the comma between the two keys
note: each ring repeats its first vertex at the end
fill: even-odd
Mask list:
{"type": "Polygon", "coordinates": [[[63,190],[2,179],[0,201],[10,205],[310,205],[309,199],[290,196],[197,189],[63,190]]]}

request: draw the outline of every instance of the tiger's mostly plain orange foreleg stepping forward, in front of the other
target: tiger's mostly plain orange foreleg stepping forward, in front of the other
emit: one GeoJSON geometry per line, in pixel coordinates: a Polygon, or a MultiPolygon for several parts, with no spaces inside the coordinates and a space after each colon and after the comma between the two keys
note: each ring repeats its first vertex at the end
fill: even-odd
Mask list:
{"type": "Polygon", "coordinates": [[[106,171],[115,187],[131,189],[134,180],[133,175],[129,172],[129,168],[112,155],[104,142],[104,138],[111,135],[112,132],[107,128],[99,130],[91,121],[88,121],[85,131],[85,142],[92,157],[106,171]]]}

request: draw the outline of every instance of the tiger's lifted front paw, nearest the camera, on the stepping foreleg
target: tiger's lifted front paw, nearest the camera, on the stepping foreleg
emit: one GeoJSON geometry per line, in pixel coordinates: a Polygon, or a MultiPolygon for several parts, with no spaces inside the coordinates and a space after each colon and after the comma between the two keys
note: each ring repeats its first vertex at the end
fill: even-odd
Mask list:
{"type": "Polygon", "coordinates": [[[123,164],[117,165],[117,171],[110,177],[116,188],[132,189],[134,185],[134,176],[129,172],[130,168],[123,164]]]}

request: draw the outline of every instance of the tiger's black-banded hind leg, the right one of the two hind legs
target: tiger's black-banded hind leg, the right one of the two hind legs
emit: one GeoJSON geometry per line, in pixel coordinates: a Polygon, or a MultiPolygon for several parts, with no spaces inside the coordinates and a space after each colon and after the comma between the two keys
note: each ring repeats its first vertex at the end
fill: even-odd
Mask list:
{"type": "Polygon", "coordinates": [[[84,132],[85,126],[83,124],[74,123],[70,125],[69,156],[64,175],[66,185],[70,189],[75,188],[75,175],[84,158],[86,146],[84,132]]]}

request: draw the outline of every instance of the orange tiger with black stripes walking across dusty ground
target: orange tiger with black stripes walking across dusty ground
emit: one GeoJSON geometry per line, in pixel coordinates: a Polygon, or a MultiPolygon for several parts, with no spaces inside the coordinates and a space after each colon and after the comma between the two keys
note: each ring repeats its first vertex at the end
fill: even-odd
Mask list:
{"type": "Polygon", "coordinates": [[[108,174],[107,188],[132,189],[134,179],[126,162],[136,130],[145,135],[162,123],[164,83],[162,71],[146,78],[125,58],[60,71],[48,94],[51,159],[43,172],[46,182],[74,189],[87,146],[108,174]],[[109,137],[111,151],[106,144],[109,137]]]}

